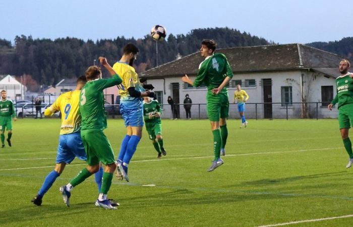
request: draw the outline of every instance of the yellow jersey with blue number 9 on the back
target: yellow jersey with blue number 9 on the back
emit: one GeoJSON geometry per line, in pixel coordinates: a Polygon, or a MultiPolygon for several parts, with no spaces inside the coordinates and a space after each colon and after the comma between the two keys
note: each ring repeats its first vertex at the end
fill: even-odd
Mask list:
{"type": "Polygon", "coordinates": [[[65,92],[44,111],[44,116],[52,116],[56,111],[61,112],[62,126],[60,135],[75,133],[81,129],[81,116],[79,114],[80,93],[80,90],[65,92]]]}

